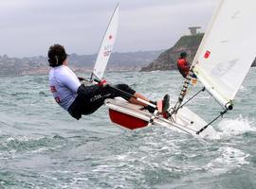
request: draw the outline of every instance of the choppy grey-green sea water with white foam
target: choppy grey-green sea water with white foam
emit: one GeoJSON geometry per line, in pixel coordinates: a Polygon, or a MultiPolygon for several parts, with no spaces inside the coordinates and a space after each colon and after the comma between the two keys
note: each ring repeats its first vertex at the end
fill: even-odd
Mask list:
{"type": "MultiPolygon", "coordinates": [[[[105,77],[153,100],[170,94],[172,104],[183,82],[175,71],[105,77]]],[[[255,77],[251,68],[234,110],[212,124],[214,140],[163,127],[120,129],[106,107],[77,121],[55,103],[47,76],[2,77],[0,188],[256,188],[255,77]]],[[[207,93],[188,107],[207,121],[222,111],[207,93]]]]}

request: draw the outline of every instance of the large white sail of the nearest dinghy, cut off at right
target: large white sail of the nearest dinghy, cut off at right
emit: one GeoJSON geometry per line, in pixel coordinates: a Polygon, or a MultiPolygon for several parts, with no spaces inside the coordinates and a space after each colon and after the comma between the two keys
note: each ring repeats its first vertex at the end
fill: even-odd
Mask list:
{"type": "Polygon", "coordinates": [[[255,20],[255,0],[221,0],[192,62],[195,75],[226,108],[255,59],[255,20]]]}

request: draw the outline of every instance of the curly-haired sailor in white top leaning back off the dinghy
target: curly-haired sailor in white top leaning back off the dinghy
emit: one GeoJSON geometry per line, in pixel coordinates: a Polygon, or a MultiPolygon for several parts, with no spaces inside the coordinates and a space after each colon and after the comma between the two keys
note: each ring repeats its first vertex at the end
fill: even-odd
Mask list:
{"type": "Polygon", "coordinates": [[[120,96],[133,104],[142,105],[149,112],[166,112],[169,109],[170,97],[168,94],[158,102],[150,101],[142,94],[137,93],[127,84],[110,86],[105,80],[97,84],[88,85],[82,77],[77,77],[67,66],[67,57],[63,45],[54,44],[48,49],[48,62],[52,67],[49,72],[50,91],[55,101],[74,118],[80,119],[82,114],[96,112],[107,98],[120,96]],[[138,101],[137,98],[143,101],[138,101]],[[154,104],[155,107],[148,104],[154,104]]]}

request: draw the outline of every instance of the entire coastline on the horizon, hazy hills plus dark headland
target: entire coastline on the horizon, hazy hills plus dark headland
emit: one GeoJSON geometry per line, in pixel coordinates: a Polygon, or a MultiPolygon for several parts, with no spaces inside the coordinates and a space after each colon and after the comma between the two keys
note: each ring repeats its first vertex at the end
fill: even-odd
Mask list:
{"type": "MultiPolygon", "coordinates": [[[[192,62],[204,33],[182,36],[173,47],[167,50],[137,51],[128,53],[112,53],[107,70],[109,71],[141,71],[175,70],[179,53],[186,51],[188,60],[192,62]]],[[[97,54],[71,54],[68,58],[69,66],[75,72],[91,72],[97,54]]],[[[45,75],[49,71],[46,57],[9,58],[0,56],[0,77],[45,75]]],[[[252,66],[256,66],[256,60],[252,66]]]]}

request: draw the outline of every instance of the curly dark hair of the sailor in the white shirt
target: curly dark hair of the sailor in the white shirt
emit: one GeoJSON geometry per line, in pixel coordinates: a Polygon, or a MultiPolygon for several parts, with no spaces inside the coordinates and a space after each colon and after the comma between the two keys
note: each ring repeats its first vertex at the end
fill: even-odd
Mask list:
{"type": "Polygon", "coordinates": [[[53,44],[48,50],[49,66],[56,67],[62,65],[66,60],[67,54],[65,53],[64,46],[61,44],[53,44]]]}

